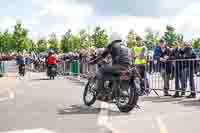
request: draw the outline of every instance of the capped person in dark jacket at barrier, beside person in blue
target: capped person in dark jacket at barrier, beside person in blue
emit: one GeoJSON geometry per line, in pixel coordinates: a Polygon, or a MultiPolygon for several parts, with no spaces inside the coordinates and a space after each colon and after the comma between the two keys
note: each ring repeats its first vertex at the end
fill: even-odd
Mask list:
{"type": "Polygon", "coordinates": [[[171,74],[171,63],[169,62],[171,50],[166,46],[166,43],[163,39],[160,40],[160,67],[161,75],[164,80],[164,96],[171,96],[168,92],[169,90],[169,80],[171,74]]]}

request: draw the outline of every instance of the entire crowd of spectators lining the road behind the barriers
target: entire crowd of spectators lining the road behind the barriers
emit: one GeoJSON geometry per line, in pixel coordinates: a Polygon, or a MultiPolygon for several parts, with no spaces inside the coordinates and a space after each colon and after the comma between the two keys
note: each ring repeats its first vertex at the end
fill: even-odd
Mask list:
{"type": "MultiPolygon", "coordinates": [[[[173,97],[185,96],[187,88],[187,81],[190,83],[191,94],[187,98],[196,97],[196,88],[194,82],[194,74],[199,70],[199,61],[197,55],[193,51],[191,42],[174,42],[173,44],[167,45],[164,39],[160,39],[159,45],[154,49],[152,57],[148,55],[148,49],[144,45],[141,37],[136,38],[137,46],[132,48],[134,64],[138,68],[141,77],[144,80],[144,86],[148,90],[149,83],[147,73],[159,72],[164,81],[164,96],[171,96],[169,94],[169,81],[175,79],[175,89],[177,90],[173,97]]],[[[58,58],[62,61],[73,61],[79,60],[80,62],[80,73],[86,73],[84,64],[86,64],[92,58],[96,58],[102,53],[103,48],[89,48],[82,49],[78,52],[69,52],[66,54],[59,54],[58,58]]],[[[25,64],[33,63],[35,69],[38,69],[42,64],[45,68],[47,55],[1,55],[0,61],[16,59],[17,63],[20,64],[21,60],[18,60],[20,56],[26,58],[25,64]]],[[[111,62],[110,58],[104,59],[105,62],[111,62]]]]}

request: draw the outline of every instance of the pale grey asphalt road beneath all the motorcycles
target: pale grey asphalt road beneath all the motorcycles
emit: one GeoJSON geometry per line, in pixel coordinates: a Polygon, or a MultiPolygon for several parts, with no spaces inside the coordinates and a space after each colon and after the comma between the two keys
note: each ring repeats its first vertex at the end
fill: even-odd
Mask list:
{"type": "Polygon", "coordinates": [[[44,73],[27,73],[15,83],[15,97],[0,100],[0,133],[200,132],[198,99],[152,94],[140,99],[141,109],[124,114],[100,102],[84,106],[83,84],[62,77],[50,81],[44,73]],[[103,106],[107,110],[101,110],[103,106]]]}

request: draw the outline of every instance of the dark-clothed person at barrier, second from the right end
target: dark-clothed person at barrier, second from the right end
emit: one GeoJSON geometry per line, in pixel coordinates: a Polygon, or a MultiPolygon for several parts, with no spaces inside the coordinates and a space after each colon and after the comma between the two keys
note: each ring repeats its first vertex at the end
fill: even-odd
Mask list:
{"type": "Polygon", "coordinates": [[[182,97],[185,95],[183,89],[183,65],[181,59],[183,59],[183,52],[179,47],[180,44],[178,42],[174,42],[172,44],[172,51],[170,55],[170,60],[172,60],[173,67],[174,67],[174,76],[175,76],[175,94],[173,95],[174,98],[182,97]],[[181,91],[181,95],[180,95],[181,91]]]}

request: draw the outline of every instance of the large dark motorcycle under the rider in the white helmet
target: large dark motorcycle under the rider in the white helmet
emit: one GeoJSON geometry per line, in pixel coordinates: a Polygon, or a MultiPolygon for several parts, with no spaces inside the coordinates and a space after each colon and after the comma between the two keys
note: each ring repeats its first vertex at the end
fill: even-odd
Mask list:
{"type": "Polygon", "coordinates": [[[128,113],[137,105],[141,91],[140,80],[135,79],[135,67],[116,72],[113,74],[112,80],[104,81],[104,88],[98,92],[96,75],[92,75],[88,78],[84,88],[83,101],[87,106],[91,106],[96,100],[114,103],[121,112],[128,113]],[[102,93],[102,97],[97,99],[98,93],[102,93]]]}

